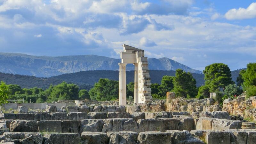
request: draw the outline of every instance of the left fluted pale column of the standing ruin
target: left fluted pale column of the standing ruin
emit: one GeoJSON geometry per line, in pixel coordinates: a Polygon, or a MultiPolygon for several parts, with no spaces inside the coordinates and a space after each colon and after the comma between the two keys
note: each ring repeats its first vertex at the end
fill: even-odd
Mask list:
{"type": "Polygon", "coordinates": [[[119,65],[119,106],[126,106],[126,72],[127,63],[118,63],[119,65]]]}

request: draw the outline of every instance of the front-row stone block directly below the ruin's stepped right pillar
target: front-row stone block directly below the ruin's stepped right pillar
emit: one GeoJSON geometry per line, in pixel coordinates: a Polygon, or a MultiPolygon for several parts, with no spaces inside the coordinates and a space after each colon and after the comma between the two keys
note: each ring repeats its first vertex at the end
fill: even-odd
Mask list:
{"type": "Polygon", "coordinates": [[[171,133],[152,131],[140,132],[138,136],[138,144],[172,144],[171,133]]]}

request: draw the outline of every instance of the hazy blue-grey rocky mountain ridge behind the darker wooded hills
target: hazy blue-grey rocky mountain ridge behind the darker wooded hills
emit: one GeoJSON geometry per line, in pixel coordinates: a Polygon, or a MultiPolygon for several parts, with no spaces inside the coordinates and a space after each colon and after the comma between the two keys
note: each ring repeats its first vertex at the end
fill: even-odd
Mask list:
{"type": "MultiPolygon", "coordinates": [[[[75,56],[32,56],[22,53],[0,52],[0,72],[36,77],[51,77],[66,73],[75,73],[88,70],[118,70],[120,59],[97,55],[75,56]]],[[[176,70],[202,74],[201,71],[189,68],[177,61],[168,58],[149,58],[150,70],[176,70]]],[[[134,70],[128,64],[126,70],[134,70]]]]}

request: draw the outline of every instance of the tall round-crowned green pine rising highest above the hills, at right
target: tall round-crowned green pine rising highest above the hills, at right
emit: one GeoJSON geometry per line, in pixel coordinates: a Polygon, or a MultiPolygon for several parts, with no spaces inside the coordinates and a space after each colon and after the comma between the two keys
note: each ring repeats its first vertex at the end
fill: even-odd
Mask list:
{"type": "Polygon", "coordinates": [[[213,63],[206,66],[203,72],[205,85],[209,87],[210,92],[218,91],[220,88],[224,91],[225,86],[234,84],[230,69],[223,63],[213,63]]]}

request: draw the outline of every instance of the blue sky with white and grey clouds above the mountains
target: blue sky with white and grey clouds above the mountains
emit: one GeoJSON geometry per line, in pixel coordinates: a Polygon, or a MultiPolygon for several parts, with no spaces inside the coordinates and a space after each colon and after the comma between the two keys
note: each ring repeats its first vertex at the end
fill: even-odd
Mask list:
{"type": "Polygon", "coordinates": [[[122,44],[204,70],[256,62],[252,0],[0,0],[0,52],[120,58],[122,44]]]}

